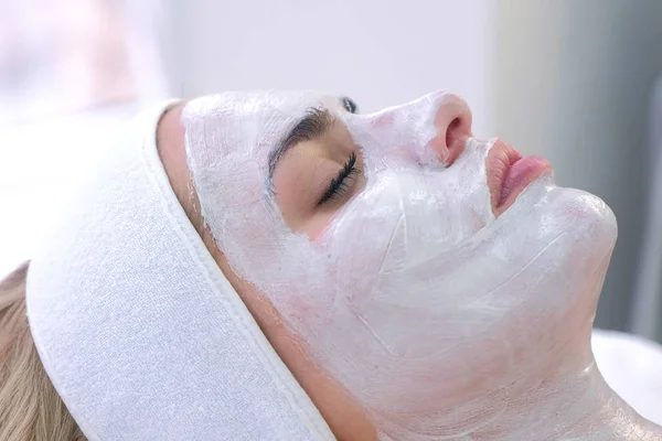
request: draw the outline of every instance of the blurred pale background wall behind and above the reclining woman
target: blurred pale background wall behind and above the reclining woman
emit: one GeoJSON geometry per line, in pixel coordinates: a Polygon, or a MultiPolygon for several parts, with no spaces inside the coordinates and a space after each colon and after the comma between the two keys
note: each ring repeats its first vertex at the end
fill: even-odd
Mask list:
{"type": "Polygon", "coordinates": [[[314,88],[371,111],[445,88],[611,206],[596,324],[662,341],[660,75],[660,0],[0,0],[0,273],[157,99],[314,88]]]}

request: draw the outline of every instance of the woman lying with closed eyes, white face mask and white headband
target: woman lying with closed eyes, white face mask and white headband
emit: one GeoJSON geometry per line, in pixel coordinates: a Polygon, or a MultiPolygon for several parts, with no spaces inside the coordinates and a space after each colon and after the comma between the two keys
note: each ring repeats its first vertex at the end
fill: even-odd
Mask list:
{"type": "Polygon", "coordinates": [[[33,369],[1,396],[30,413],[2,439],[662,439],[590,351],[611,211],[471,138],[456,96],[354,110],[226,93],[137,119],[28,271],[73,419],[32,410],[23,270],[2,372],[33,369]]]}

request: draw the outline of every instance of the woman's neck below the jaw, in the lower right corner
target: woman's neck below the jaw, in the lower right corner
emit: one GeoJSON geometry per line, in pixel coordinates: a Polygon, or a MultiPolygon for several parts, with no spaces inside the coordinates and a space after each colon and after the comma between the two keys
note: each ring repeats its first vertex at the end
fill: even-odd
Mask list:
{"type": "Polygon", "coordinates": [[[662,439],[662,428],[640,417],[618,397],[592,358],[577,375],[544,380],[522,392],[509,400],[503,418],[473,439],[662,439]],[[500,424],[500,421],[509,421],[509,427],[500,424]]]}

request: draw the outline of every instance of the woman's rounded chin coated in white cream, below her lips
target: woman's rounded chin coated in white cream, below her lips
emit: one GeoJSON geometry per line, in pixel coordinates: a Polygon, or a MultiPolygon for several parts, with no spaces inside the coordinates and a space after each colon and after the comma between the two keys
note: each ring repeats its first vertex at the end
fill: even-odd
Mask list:
{"type": "Polygon", "coordinates": [[[502,259],[512,287],[520,281],[513,293],[531,302],[527,310],[548,308],[584,319],[595,314],[617,238],[616,217],[602,200],[537,183],[489,229],[499,237],[490,248],[493,260],[502,259]]]}

